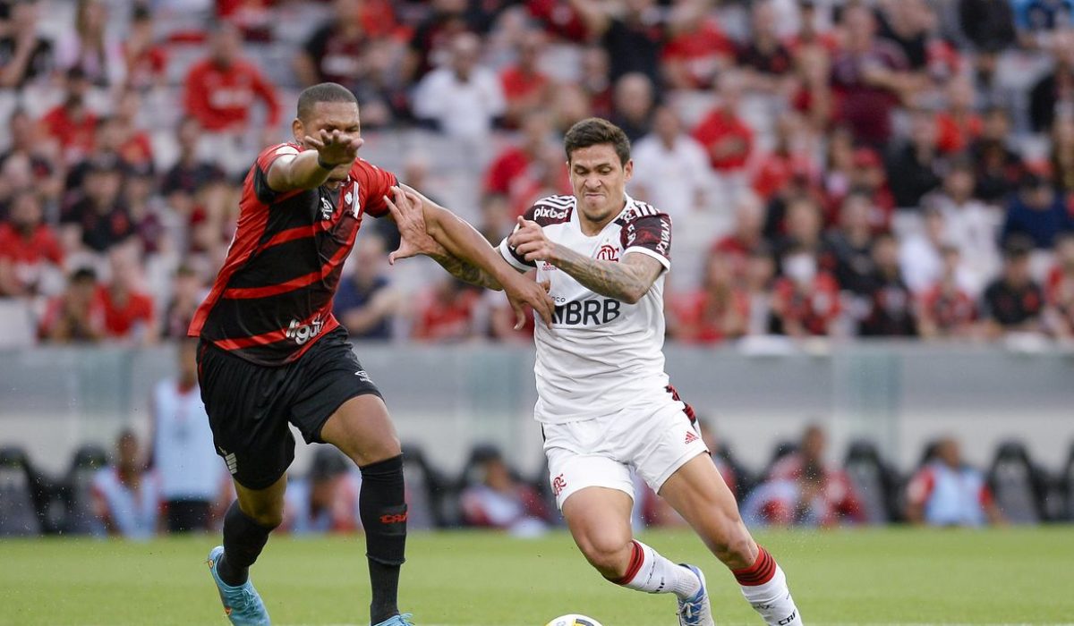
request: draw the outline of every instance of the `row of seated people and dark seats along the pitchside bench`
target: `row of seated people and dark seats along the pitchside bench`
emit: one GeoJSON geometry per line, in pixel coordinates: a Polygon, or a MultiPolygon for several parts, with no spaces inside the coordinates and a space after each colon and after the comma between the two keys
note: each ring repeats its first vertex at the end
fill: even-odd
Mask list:
{"type": "MultiPolygon", "coordinates": [[[[197,388],[191,396],[185,376],[155,390],[147,445],[124,431],[112,452],[81,449],[62,477],[37,470],[17,448],[0,448],[0,537],[145,539],[218,529],[234,489],[213,453],[207,418],[193,399],[197,388]]],[[[1025,446],[1006,441],[982,469],[964,462],[955,438],[944,437],[926,447],[915,468],[901,472],[863,440],[852,442],[841,462],[833,462],[825,431],[810,425],[800,440],[778,446],[765,467],[751,471],[711,425],[702,420],[699,428],[752,527],[1074,521],[1074,449],[1065,467],[1051,471],[1034,463],[1025,446]]],[[[411,529],[476,527],[525,538],[563,524],[547,471],[524,476],[494,446],[475,446],[458,474],[434,467],[419,448],[404,446],[404,452],[411,529]]],[[[281,530],[360,533],[361,480],[358,468],[334,448],[318,447],[308,468],[289,476],[281,530]]],[[[639,529],[685,525],[637,477],[633,523],[639,529]]]]}

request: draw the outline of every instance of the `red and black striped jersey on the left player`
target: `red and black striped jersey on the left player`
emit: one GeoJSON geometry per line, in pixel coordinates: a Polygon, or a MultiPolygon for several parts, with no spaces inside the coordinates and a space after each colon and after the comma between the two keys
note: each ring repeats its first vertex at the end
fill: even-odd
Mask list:
{"type": "Polygon", "coordinates": [[[278,193],[267,172],[297,144],[258,156],[240,200],[238,227],[205,302],[187,334],[260,365],[294,361],[339,325],[332,300],[362,217],[388,213],[394,174],[362,159],[338,188],[278,193]]]}

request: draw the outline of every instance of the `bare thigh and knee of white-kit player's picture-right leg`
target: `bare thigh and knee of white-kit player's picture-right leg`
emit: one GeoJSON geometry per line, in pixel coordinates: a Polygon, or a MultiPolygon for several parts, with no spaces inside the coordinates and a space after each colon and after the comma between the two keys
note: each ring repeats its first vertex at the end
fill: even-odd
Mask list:
{"type": "Polygon", "coordinates": [[[753,565],[757,544],[742,522],[735,495],[708,454],[679,467],[658,493],[728,567],[753,565]]]}

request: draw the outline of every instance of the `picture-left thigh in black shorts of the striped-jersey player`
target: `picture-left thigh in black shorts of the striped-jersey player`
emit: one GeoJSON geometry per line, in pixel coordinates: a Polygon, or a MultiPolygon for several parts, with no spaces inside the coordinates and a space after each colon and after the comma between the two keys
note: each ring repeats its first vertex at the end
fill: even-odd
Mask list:
{"type": "Polygon", "coordinates": [[[262,367],[204,344],[198,364],[216,453],[245,489],[275,484],[294,460],[287,420],[293,373],[262,367]]]}

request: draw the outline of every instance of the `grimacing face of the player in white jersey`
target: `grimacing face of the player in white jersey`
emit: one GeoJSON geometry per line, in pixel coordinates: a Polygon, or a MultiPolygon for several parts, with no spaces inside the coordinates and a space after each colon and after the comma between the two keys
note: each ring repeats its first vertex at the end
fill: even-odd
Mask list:
{"type": "Polygon", "coordinates": [[[611,144],[596,144],[571,152],[567,166],[578,207],[587,221],[603,225],[622,210],[634,161],[624,165],[611,144]]]}

